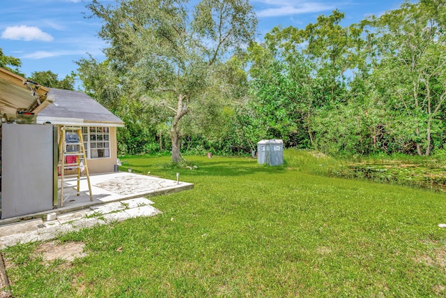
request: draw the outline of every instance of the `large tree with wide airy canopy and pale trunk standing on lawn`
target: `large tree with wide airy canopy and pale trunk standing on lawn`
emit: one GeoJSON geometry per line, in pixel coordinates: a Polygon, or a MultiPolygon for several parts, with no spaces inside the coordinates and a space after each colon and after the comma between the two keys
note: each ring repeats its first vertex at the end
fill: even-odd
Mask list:
{"type": "Polygon", "coordinates": [[[132,96],[171,113],[171,157],[180,162],[181,123],[206,100],[225,55],[254,37],[256,16],[246,0],[130,0],[88,8],[104,23],[105,54],[132,96]],[[194,107],[195,105],[195,107],[194,107]]]}

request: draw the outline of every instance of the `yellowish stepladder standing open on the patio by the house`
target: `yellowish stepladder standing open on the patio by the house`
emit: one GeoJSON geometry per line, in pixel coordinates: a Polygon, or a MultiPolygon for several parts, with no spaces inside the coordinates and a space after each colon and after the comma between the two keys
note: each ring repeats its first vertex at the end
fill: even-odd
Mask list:
{"type": "Polygon", "coordinates": [[[93,194],[91,193],[89,166],[86,162],[86,154],[84,147],[84,138],[82,137],[82,127],[61,126],[61,134],[59,137],[59,168],[61,170],[61,200],[60,205],[63,207],[63,188],[64,179],[75,178],[77,181],[77,195],[80,195],[80,181],[86,179],[89,184],[90,200],[93,201],[93,194]],[[66,175],[66,170],[75,169],[77,174],[66,175]],[[82,169],[82,170],[81,170],[82,169]],[[85,177],[81,173],[85,169],[85,177]]]}

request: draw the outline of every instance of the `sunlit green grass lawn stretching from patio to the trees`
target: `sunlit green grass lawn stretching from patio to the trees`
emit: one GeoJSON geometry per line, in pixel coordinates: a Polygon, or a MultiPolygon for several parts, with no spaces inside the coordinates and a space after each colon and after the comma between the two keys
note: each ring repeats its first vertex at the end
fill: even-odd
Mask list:
{"type": "MultiPolygon", "coordinates": [[[[85,258],[45,263],[38,244],[3,251],[15,297],[445,297],[446,196],[309,174],[286,152],[252,158],[127,157],[123,169],[192,182],[152,198],[164,214],[68,234],[85,258]],[[121,248],[122,247],[122,251],[121,248]]],[[[306,170],[312,167],[312,170],[306,170]]]]}

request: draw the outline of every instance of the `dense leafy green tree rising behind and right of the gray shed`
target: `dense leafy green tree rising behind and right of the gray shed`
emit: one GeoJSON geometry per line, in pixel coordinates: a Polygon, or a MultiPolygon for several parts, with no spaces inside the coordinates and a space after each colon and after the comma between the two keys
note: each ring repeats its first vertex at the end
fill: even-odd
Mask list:
{"type": "Polygon", "coordinates": [[[288,144],[317,144],[312,129],[320,126],[312,121],[321,118],[314,114],[346,103],[347,73],[360,61],[355,47],[362,31],[342,27],[343,19],[344,13],[334,10],[305,29],[275,27],[263,44],[248,49],[254,108],[288,144]]]}

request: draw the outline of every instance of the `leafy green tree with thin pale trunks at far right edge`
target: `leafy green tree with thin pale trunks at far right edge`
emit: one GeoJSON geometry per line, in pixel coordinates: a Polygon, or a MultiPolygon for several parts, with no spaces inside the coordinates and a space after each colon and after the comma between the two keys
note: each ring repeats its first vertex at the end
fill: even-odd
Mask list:
{"type": "Polygon", "coordinates": [[[372,52],[378,59],[371,80],[387,109],[410,120],[408,139],[418,155],[429,155],[433,135],[443,131],[445,15],[443,1],[406,1],[399,9],[364,21],[375,31],[372,52]]]}

